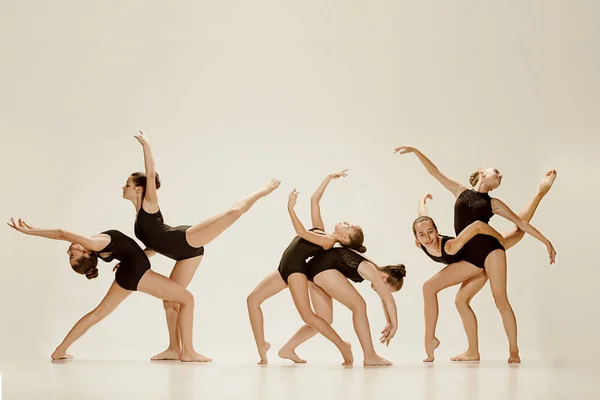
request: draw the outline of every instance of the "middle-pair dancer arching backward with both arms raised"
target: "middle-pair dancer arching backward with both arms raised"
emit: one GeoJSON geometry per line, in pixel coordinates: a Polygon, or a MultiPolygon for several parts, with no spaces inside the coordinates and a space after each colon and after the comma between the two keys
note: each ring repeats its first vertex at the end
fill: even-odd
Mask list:
{"type": "MultiPolygon", "coordinates": [[[[316,218],[320,219],[319,201],[325,189],[332,180],[347,176],[346,171],[328,175],[313,194],[311,198],[311,215],[313,221],[316,218]],[[316,215],[319,215],[319,217],[316,217],[316,215]]],[[[267,351],[271,347],[265,341],[263,313],[260,306],[266,299],[276,295],[285,288],[289,288],[302,320],[333,342],[342,353],[344,359],[342,365],[350,366],[354,362],[350,344],[342,341],[333,328],[323,318],[315,315],[311,309],[308,297],[306,260],[309,257],[331,249],[336,243],[364,253],[367,250],[363,246],[364,235],[359,226],[350,225],[347,222],[336,224],[334,231],[331,233],[326,233],[323,230],[322,224],[307,230],[294,211],[297,196],[298,192],[294,189],[288,198],[288,212],[298,236],[292,240],[283,253],[277,271],[267,275],[248,296],[248,314],[260,356],[258,364],[266,365],[268,363],[267,351]]]]}

